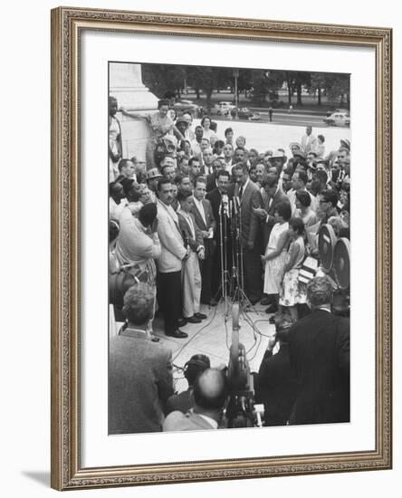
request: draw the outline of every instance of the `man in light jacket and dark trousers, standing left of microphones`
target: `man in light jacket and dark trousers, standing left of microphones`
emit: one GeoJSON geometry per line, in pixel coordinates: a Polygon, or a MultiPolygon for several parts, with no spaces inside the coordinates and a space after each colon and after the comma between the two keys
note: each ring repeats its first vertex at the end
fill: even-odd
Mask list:
{"type": "Polygon", "coordinates": [[[178,226],[177,213],[173,210],[173,188],[168,179],[158,181],[158,237],[161,254],[158,266],[158,304],[165,321],[168,336],[183,339],[187,333],[178,330],[181,306],[181,270],[188,252],[178,226]]]}

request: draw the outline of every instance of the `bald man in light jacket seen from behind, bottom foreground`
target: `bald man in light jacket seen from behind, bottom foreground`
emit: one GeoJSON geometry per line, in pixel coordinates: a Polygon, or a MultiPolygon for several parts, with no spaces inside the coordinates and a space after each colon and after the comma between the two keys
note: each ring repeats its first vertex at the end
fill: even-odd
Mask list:
{"type": "Polygon", "coordinates": [[[195,406],[184,414],[171,412],[163,423],[163,431],[199,431],[218,428],[227,397],[225,373],[219,369],[206,369],[194,382],[195,406]]]}

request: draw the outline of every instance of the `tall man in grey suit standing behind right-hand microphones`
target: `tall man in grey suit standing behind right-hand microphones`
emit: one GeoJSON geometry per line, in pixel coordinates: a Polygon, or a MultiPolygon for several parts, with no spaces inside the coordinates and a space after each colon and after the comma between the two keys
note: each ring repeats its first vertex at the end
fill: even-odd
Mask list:
{"type": "MultiPolygon", "coordinates": [[[[261,264],[261,230],[254,209],[261,207],[260,189],[251,181],[245,163],[238,163],[232,170],[235,180],[234,196],[240,206],[240,244],[243,248],[244,292],[252,304],[263,294],[261,264]]],[[[241,271],[241,269],[239,269],[241,271]]]]}

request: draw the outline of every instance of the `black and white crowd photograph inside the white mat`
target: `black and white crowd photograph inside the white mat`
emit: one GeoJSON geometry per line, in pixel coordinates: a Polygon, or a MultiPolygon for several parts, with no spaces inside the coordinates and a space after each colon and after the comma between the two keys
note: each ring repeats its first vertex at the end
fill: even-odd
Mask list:
{"type": "Polygon", "coordinates": [[[349,423],[349,73],[118,61],[108,97],[109,435],[349,423]]]}

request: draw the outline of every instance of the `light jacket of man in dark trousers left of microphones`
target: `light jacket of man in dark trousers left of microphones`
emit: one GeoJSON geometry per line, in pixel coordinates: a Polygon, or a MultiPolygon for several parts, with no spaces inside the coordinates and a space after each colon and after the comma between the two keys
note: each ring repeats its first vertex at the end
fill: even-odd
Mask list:
{"type": "Polygon", "coordinates": [[[179,232],[178,220],[176,223],[160,201],[157,206],[158,237],[161,245],[161,253],[157,259],[158,270],[162,273],[180,272],[186,249],[179,232]]]}

